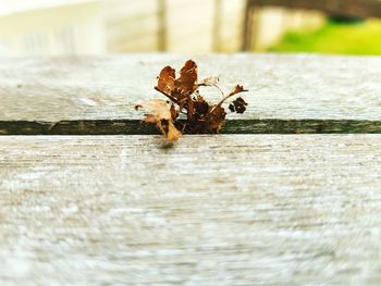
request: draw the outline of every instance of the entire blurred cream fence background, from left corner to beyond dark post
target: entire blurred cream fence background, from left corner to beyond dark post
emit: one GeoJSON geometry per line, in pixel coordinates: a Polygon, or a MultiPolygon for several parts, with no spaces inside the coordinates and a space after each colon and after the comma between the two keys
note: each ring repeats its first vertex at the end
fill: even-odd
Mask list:
{"type": "Polygon", "coordinates": [[[49,0],[50,7],[33,9],[26,5],[32,1],[21,1],[24,10],[1,15],[7,1],[12,2],[0,2],[0,55],[235,52],[242,50],[247,23],[256,37],[249,49],[261,50],[285,29],[320,20],[261,9],[256,22],[247,22],[246,0],[49,0]]]}

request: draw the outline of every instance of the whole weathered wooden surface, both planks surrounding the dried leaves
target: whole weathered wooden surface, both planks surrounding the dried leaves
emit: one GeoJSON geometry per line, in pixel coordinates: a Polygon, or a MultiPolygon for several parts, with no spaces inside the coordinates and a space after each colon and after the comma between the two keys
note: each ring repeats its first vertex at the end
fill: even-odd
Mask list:
{"type": "Polygon", "coordinates": [[[186,59],[2,61],[0,285],[380,285],[380,58],[195,57],[250,89],[230,134],[37,136],[139,126],[133,105],[186,59]],[[253,121],[268,134],[236,134],[253,121]]]}

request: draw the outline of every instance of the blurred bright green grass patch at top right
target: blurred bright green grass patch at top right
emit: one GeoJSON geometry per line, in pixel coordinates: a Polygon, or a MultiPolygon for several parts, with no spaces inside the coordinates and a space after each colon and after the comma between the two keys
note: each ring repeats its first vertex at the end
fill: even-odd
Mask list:
{"type": "Polygon", "coordinates": [[[337,54],[381,54],[381,21],[355,24],[328,22],[315,32],[290,32],[273,52],[319,52],[337,54]]]}

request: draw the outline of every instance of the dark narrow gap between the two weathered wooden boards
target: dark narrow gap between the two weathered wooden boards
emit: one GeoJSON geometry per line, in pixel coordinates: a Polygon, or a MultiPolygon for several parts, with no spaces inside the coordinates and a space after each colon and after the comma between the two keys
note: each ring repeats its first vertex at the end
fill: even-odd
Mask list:
{"type": "MultiPolygon", "coordinates": [[[[0,121],[0,135],[156,135],[138,120],[0,121]]],[[[381,121],[229,120],[221,134],[381,134],[381,121]]]]}

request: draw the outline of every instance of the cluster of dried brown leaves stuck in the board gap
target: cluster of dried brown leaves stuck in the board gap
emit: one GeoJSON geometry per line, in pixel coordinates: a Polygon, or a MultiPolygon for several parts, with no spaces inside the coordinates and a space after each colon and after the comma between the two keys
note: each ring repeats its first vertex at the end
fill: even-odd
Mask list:
{"type": "MultiPolygon", "coordinates": [[[[218,86],[217,77],[209,77],[197,83],[197,64],[189,60],[180,71],[180,77],[175,77],[175,70],[165,66],[158,76],[156,90],[164,95],[169,100],[153,100],[146,104],[136,105],[144,108],[148,113],[143,122],[155,123],[160,132],[169,140],[177,140],[185,134],[216,134],[222,127],[226,112],[222,108],[229,98],[247,91],[243,86],[235,86],[229,95],[224,95],[218,86]],[[207,102],[199,94],[200,86],[217,87],[222,92],[222,99],[217,104],[207,102]],[[182,120],[181,115],[184,119],[182,120]]],[[[241,97],[229,105],[231,112],[244,113],[247,103],[241,97]]]]}

